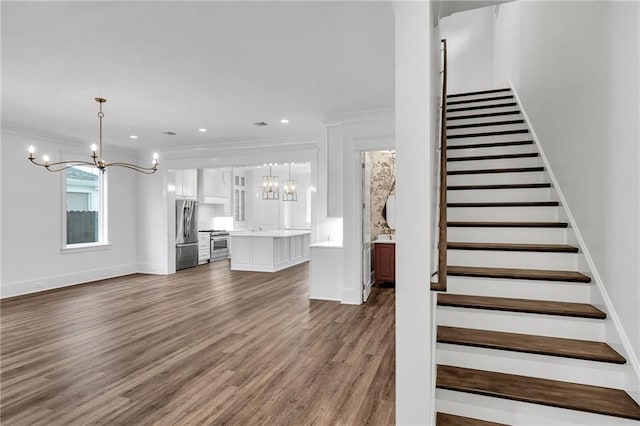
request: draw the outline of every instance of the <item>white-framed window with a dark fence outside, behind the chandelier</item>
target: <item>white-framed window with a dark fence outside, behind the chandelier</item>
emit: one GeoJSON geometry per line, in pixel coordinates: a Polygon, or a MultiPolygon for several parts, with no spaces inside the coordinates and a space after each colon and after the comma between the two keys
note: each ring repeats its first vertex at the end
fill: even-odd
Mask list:
{"type": "Polygon", "coordinates": [[[106,244],[104,180],[104,173],[95,167],[74,166],[66,170],[65,247],[106,244]]]}

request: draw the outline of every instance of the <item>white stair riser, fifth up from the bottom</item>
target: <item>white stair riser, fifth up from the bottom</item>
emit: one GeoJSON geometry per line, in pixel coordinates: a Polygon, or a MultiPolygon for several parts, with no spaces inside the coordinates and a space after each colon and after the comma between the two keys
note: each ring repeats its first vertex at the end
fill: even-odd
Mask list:
{"type": "Polygon", "coordinates": [[[495,268],[556,269],[574,271],[576,253],[526,251],[447,250],[449,265],[486,266],[495,268]]]}

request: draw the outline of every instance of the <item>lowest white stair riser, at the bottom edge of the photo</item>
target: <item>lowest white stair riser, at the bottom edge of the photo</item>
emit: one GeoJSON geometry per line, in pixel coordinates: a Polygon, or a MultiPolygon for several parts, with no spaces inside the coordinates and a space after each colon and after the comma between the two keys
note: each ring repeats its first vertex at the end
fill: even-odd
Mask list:
{"type": "Polygon", "coordinates": [[[518,426],[637,426],[638,422],[583,411],[436,389],[437,411],[518,426]]]}

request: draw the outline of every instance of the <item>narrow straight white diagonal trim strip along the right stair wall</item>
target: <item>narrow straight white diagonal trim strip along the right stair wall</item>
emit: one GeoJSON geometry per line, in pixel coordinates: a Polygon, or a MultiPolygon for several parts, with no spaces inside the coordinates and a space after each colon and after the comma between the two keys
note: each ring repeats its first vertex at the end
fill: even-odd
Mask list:
{"type": "Polygon", "coordinates": [[[634,399],[636,401],[638,401],[640,403],[640,362],[638,362],[638,354],[634,351],[633,346],[631,346],[631,342],[629,341],[629,338],[627,337],[627,334],[624,331],[624,328],[622,327],[622,322],[620,321],[620,317],[618,316],[615,308],[613,307],[613,303],[611,302],[611,299],[609,298],[609,295],[607,294],[607,290],[604,286],[604,283],[602,282],[602,278],[600,277],[600,274],[598,273],[598,269],[596,268],[596,265],[593,262],[593,259],[591,258],[591,255],[589,254],[589,250],[587,248],[587,245],[584,242],[584,239],[582,238],[582,234],[580,233],[580,230],[578,228],[578,225],[576,224],[576,221],[573,217],[573,214],[571,213],[571,209],[569,208],[569,204],[567,203],[567,199],[565,198],[564,194],[562,193],[562,189],[560,188],[560,185],[558,184],[558,181],[555,177],[555,175],[553,174],[553,170],[551,169],[551,166],[549,165],[549,161],[547,160],[547,157],[544,153],[544,149],[542,148],[542,145],[540,144],[540,140],[538,139],[538,136],[536,134],[536,131],[533,127],[533,124],[531,123],[531,120],[529,119],[529,116],[527,115],[527,112],[524,108],[524,105],[522,104],[522,101],[520,100],[520,96],[518,95],[518,92],[516,91],[515,87],[513,86],[513,82],[511,81],[511,79],[509,79],[509,86],[511,87],[511,91],[513,92],[513,95],[516,99],[516,102],[518,104],[518,107],[520,108],[520,112],[522,113],[522,116],[525,119],[525,122],[527,123],[527,126],[529,127],[529,131],[531,132],[531,136],[533,138],[534,143],[536,144],[536,147],[538,148],[538,152],[540,153],[540,158],[542,159],[543,163],[544,163],[544,167],[545,167],[545,171],[548,173],[549,175],[549,179],[551,180],[551,183],[554,187],[554,189],[556,190],[556,193],[558,195],[560,204],[564,207],[565,213],[567,215],[567,220],[570,223],[571,226],[571,230],[575,233],[575,237],[577,239],[577,243],[580,247],[580,251],[582,252],[582,254],[584,254],[584,259],[586,260],[586,263],[588,265],[589,268],[589,274],[591,275],[591,278],[593,280],[593,282],[595,283],[598,291],[600,292],[600,296],[602,297],[602,301],[605,305],[605,310],[607,312],[607,317],[611,319],[611,321],[613,322],[613,325],[615,327],[615,330],[618,334],[618,337],[620,339],[620,342],[622,343],[622,347],[624,348],[624,352],[627,358],[627,361],[629,362],[629,364],[632,366],[633,371],[635,373],[635,384],[632,385],[632,389],[629,389],[629,393],[632,395],[632,397],[634,397],[634,399]]]}

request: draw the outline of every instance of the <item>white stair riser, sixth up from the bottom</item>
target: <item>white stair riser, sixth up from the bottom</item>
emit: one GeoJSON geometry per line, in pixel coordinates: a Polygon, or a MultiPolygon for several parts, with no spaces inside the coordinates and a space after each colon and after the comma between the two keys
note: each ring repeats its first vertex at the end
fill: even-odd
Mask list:
{"type": "MultiPolygon", "coordinates": [[[[451,220],[451,218],[448,218],[451,220]]],[[[460,242],[566,244],[566,228],[447,228],[447,239],[460,242]]]]}

